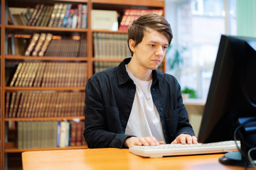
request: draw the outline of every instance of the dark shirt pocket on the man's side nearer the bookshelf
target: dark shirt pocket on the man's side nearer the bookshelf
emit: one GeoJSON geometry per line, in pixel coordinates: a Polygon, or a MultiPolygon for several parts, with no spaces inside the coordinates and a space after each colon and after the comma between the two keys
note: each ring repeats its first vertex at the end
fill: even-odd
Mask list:
{"type": "Polygon", "coordinates": [[[117,107],[105,106],[107,117],[107,128],[110,132],[123,133],[117,107]]]}

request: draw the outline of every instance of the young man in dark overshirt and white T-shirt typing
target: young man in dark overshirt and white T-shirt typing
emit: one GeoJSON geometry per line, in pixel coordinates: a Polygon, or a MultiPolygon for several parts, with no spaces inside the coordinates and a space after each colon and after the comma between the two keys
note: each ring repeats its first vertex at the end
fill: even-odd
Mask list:
{"type": "Polygon", "coordinates": [[[84,136],[89,148],[197,143],[178,81],[156,71],[172,36],[164,17],[139,17],[128,29],[132,57],[87,81],[84,136]]]}

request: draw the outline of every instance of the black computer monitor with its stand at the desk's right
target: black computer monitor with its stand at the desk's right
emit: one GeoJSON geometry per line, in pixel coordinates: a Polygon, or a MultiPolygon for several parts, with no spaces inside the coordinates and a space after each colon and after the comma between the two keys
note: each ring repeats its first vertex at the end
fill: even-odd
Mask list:
{"type": "Polygon", "coordinates": [[[256,147],[256,38],[221,35],[198,142],[234,137],[241,142],[240,152],[219,160],[247,166],[247,152],[256,147]]]}

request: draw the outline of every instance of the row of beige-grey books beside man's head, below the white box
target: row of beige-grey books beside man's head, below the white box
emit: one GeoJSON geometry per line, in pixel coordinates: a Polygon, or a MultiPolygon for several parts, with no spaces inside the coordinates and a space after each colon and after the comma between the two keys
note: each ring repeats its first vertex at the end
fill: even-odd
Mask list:
{"type": "Polygon", "coordinates": [[[131,56],[124,33],[93,33],[95,58],[124,59],[131,56]]]}

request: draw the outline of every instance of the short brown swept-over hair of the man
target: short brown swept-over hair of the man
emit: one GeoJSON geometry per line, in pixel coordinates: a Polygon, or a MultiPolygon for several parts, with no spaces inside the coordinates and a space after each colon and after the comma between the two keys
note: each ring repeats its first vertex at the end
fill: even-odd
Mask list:
{"type": "MultiPolygon", "coordinates": [[[[151,28],[156,30],[157,32],[163,34],[168,38],[169,45],[171,44],[171,39],[173,38],[173,34],[171,31],[171,26],[166,21],[164,16],[159,16],[154,13],[149,13],[144,16],[140,16],[137,20],[134,20],[128,28],[128,47],[129,47],[129,40],[132,39],[135,41],[134,47],[136,47],[144,37],[144,32],[146,28],[151,28]]],[[[133,56],[132,50],[129,48],[131,55],[133,56]]]]}

